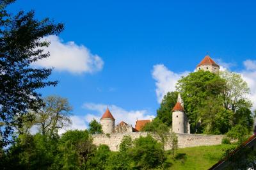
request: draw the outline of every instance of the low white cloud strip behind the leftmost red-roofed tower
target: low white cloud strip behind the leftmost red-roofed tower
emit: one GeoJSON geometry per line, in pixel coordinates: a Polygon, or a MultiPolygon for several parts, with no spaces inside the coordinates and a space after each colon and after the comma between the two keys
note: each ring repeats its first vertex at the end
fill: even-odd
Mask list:
{"type": "Polygon", "coordinates": [[[86,103],[83,105],[84,109],[91,111],[96,111],[96,114],[86,114],[86,121],[89,123],[93,118],[97,121],[100,120],[102,114],[106,111],[106,108],[109,107],[110,112],[115,118],[115,123],[118,124],[120,121],[125,121],[129,125],[134,127],[136,119],[138,120],[149,120],[150,117],[154,118],[154,115],[149,114],[147,110],[131,110],[127,111],[116,105],[106,105],[106,104],[93,104],[86,103]]]}

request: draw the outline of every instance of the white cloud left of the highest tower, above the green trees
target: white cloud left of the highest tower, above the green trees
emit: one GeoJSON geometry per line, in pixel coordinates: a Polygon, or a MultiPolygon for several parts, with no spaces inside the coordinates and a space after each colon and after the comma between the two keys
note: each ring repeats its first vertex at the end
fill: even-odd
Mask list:
{"type": "Polygon", "coordinates": [[[164,65],[154,65],[152,77],[156,80],[157,102],[161,103],[164,95],[169,91],[175,91],[175,84],[182,77],[188,75],[189,72],[174,73],[164,65]]]}

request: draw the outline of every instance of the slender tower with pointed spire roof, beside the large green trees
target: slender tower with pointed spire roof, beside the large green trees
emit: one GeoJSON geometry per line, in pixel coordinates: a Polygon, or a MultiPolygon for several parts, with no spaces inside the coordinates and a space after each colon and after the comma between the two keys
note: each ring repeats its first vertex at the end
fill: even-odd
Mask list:
{"type": "Polygon", "coordinates": [[[172,132],[190,134],[190,125],[184,111],[184,104],[180,94],[178,95],[177,103],[172,111],[172,132]]]}

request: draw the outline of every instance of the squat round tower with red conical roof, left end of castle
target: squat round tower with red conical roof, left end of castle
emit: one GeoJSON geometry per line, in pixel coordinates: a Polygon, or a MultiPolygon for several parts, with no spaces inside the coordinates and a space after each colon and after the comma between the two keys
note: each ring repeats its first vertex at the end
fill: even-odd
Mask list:
{"type": "Polygon", "coordinates": [[[106,112],[102,115],[100,119],[100,124],[104,134],[111,134],[115,132],[115,118],[112,116],[111,112],[107,108],[106,112]]]}

